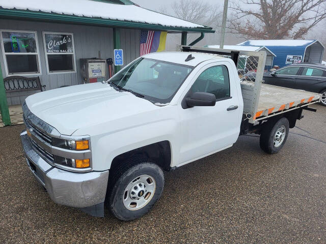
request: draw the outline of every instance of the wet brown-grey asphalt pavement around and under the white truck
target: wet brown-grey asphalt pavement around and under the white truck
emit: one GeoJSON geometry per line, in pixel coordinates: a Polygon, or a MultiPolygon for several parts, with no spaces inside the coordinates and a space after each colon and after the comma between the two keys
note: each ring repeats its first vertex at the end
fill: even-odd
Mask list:
{"type": "Polygon", "coordinates": [[[0,128],[0,243],[326,243],[326,107],[277,155],[255,135],[166,172],[148,215],[122,222],[57,205],[25,163],[23,125],[0,128]]]}

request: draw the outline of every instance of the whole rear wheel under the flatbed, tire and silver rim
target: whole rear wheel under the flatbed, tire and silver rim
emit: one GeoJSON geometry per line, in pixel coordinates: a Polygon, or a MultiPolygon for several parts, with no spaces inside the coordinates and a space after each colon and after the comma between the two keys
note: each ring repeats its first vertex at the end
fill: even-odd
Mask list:
{"type": "Polygon", "coordinates": [[[288,134],[289,120],[287,118],[280,118],[276,123],[275,120],[271,120],[260,133],[260,148],[267,154],[276,154],[284,146],[288,134]]]}

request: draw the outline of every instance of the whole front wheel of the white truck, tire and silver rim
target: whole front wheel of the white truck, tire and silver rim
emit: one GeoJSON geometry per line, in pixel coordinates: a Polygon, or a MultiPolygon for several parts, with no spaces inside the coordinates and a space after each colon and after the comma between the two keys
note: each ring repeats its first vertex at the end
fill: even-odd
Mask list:
{"type": "Polygon", "coordinates": [[[112,214],[123,221],[147,214],[164,189],[163,171],[158,165],[144,159],[133,158],[125,162],[124,166],[113,172],[112,178],[109,180],[112,186],[107,204],[112,214]]]}

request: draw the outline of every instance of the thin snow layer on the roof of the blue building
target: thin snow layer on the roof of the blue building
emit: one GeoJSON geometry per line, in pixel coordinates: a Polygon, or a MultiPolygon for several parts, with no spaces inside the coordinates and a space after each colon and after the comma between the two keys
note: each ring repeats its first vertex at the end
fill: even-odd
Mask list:
{"type": "Polygon", "coordinates": [[[306,46],[316,40],[249,40],[237,44],[240,46],[306,46]]]}

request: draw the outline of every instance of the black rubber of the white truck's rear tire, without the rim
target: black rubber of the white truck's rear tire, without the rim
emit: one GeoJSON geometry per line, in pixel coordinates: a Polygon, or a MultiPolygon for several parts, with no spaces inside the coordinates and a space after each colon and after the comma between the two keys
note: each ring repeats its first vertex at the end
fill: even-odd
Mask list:
{"type": "Polygon", "coordinates": [[[289,120],[287,118],[280,118],[279,120],[270,120],[264,126],[260,133],[259,144],[260,148],[265,151],[267,154],[276,154],[284,146],[287,136],[289,134],[289,120]],[[282,143],[279,146],[275,146],[274,137],[276,132],[281,127],[285,128],[285,136],[282,143]]]}

